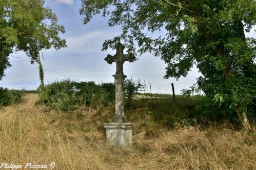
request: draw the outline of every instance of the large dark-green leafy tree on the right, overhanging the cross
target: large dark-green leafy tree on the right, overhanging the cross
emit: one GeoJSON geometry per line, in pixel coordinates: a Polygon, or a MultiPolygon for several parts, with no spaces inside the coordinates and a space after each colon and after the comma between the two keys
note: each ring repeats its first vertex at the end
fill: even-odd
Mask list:
{"type": "Polygon", "coordinates": [[[254,0],[82,0],[80,13],[85,24],[101,13],[110,27],[122,27],[103,50],[116,40],[130,50],[137,45],[140,54],[165,61],[167,79],[186,77],[196,65],[202,74],[198,88],[221,108],[216,111],[237,113],[252,130],[246,113],[255,107],[256,40],[244,32],[256,23],[254,0]]]}

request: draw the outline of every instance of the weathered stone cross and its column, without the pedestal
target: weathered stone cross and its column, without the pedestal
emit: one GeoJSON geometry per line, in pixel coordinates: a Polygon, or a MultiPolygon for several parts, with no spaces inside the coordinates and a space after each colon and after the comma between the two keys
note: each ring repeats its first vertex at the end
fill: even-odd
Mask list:
{"type": "Polygon", "coordinates": [[[115,115],[113,122],[116,123],[126,122],[124,115],[124,80],[127,76],[124,75],[123,65],[125,61],[132,62],[136,59],[134,54],[130,52],[124,54],[124,48],[125,46],[122,43],[117,42],[115,55],[107,55],[104,59],[109,64],[116,63],[116,71],[115,75],[113,75],[115,79],[115,115]]]}

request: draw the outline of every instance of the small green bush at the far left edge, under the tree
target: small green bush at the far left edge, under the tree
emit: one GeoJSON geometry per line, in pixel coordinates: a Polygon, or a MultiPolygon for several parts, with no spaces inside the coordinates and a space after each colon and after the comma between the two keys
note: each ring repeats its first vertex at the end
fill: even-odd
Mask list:
{"type": "Polygon", "coordinates": [[[0,108],[22,102],[24,90],[8,90],[0,87],[0,108]]]}

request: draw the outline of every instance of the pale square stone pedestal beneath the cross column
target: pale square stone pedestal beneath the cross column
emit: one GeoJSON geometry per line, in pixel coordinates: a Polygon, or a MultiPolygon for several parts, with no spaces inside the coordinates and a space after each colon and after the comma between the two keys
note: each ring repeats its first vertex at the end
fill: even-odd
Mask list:
{"type": "Polygon", "coordinates": [[[132,127],[134,123],[105,123],[107,144],[127,147],[132,144],[132,127]]]}

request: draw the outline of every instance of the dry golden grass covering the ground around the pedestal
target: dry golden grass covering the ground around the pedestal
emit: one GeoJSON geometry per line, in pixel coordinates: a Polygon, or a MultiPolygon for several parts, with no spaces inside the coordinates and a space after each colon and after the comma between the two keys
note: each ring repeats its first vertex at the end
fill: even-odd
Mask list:
{"type": "Polygon", "coordinates": [[[34,102],[0,110],[1,162],[55,162],[54,169],[256,169],[255,135],[193,126],[157,129],[149,137],[137,123],[132,147],[111,148],[102,125],[107,111],[75,117],[34,102]]]}

